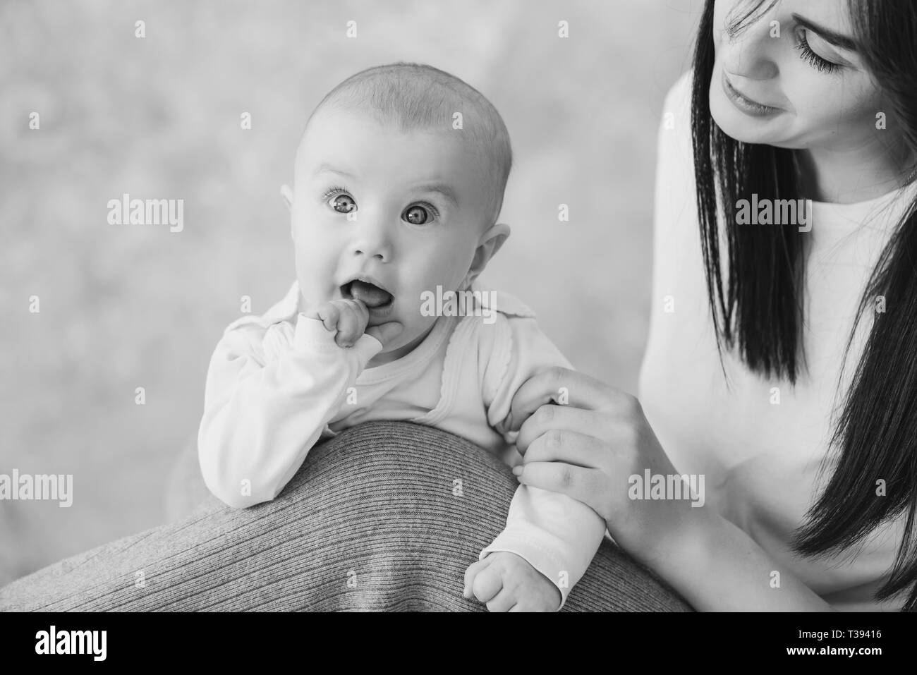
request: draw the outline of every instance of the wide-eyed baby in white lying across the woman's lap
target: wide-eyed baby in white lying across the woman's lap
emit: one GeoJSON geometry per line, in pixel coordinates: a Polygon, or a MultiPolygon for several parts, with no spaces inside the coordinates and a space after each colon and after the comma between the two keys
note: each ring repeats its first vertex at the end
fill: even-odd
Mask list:
{"type": "MultiPolygon", "coordinates": [[[[497,216],[511,163],[501,116],[447,72],[380,66],[326,95],[281,190],[296,282],[228,326],[207,371],[198,452],[211,492],[269,501],[320,437],[370,420],[436,426],[522,463],[514,393],[569,362],[525,304],[476,282],[510,234],[497,216]],[[431,311],[454,308],[429,302],[451,292],[473,299],[463,315],[431,311]]],[[[558,610],[604,532],[585,504],[522,485],[466,589],[491,611],[558,610]]]]}

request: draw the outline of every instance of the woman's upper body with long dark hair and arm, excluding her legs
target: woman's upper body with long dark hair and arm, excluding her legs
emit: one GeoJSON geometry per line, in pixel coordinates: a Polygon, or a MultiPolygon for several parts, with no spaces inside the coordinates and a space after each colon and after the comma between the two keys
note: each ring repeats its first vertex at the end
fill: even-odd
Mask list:
{"type": "Polygon", "coordinates": [[[917,6],[708,1],[666,110],[640,402],[534,378],[521,481],[700,610],[917,608],[917,6]],[[630,499],[646,469],[704,506],[630,499]]]}

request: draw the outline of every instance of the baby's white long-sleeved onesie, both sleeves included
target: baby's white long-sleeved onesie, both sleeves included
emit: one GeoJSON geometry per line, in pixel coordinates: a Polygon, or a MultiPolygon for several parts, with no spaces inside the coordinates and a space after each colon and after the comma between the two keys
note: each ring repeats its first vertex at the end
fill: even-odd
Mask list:
{"type": "MultiPolygon", "coordinates": [[[[508,293],[481,298],[491,323],[480,312],[440,316],[416,349],[376,368],[366,364],[379,340],[363,335],[338,347],[320,320],[298,314],[296,282],[264,315],[230,324],[210,360],[198,433],[207,487],[234,507],[270,501],[319,437],[372,420],[436,426],[521,464],[517,432],[505,429],[513,396],[536,372],[569,362],[525,304],[508,293]]],[[[521,556],[558,586],[562,607],[604,533],[584,503],[520,485],[505,529],[480,559],[521,556]]]]}

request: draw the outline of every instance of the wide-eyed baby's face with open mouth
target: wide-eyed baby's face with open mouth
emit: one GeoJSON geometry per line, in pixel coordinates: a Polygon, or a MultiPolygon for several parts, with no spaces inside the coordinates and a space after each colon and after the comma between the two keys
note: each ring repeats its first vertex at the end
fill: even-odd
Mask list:
{"type": "Polygon", "coordinates": [[[436,321],[421,315],[421,293],[467,288],[492,225],[486,162],[461,133],[402,133],[325,108],[297,151],[291,226],[301,307],[358,298],[370,326],[400,323],[384,360],[414,349],[436,321]]]}

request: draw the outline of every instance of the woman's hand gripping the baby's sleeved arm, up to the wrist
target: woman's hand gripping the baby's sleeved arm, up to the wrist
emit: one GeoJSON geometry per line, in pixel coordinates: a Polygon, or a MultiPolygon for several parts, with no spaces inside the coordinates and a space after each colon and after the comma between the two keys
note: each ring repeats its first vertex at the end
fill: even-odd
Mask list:
{"type": "MultiPolygon", "coordinates": [[[[586,503],[608,524],[615,541],[652,566],[698,520],[691,500],[631,499],[630,477],[676,471],[637,400],[580,372],[540,372],[516,392],[510,427],[525,463],[519,481],[563,492],[586,503]]],[[[641,490],[642,494],[643,491],[641,490]]]]}

